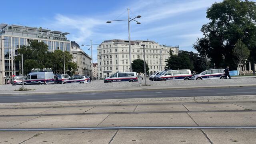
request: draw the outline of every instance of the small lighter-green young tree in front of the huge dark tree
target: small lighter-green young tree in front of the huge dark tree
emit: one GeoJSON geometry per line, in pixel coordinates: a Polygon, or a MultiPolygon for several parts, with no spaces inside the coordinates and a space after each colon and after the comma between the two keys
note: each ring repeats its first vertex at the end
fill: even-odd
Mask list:
{"type": "Polygon", "coordinates": [[[238,39],[236,42],[236,46],[233,49],[233,54],[237,58],[237,64],[244,64],[248,56],[250,55],[250,50],[247,46],[242,42],[241,39],[238,39]]]}

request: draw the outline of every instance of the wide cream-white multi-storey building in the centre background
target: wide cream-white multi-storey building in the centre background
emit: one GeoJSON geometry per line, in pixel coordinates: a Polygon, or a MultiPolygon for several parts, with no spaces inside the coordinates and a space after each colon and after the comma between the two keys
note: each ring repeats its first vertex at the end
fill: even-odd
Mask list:
{"type": "MultiPolygon", "coordinates": [[[[145,59],[150,74],[164,70],[165,61],[169,58],[170,49],[173,54],[178,54],[179,46],[160,45],[154,41],[134,40],[131,41],[132,61],[143,60],[143,47],[145,44],[145,59]]],[[[105,78],[114,72],[128,72],[130,70],[129,41],[128,40],[105,40],[97,48],[98,76],[105,78]]]]}

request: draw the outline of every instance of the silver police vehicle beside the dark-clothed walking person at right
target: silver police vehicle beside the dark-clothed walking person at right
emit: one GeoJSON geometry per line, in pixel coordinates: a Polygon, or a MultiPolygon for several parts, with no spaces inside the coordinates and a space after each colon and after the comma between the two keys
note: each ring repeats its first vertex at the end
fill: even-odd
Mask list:
{"type": "Polygon", "coordinates": [[[191,77],[191,80],[204,80],[204,79],[223,79],[225,78],[225,72],[223,68],[205,70],[200,74],[191,77]]]}

